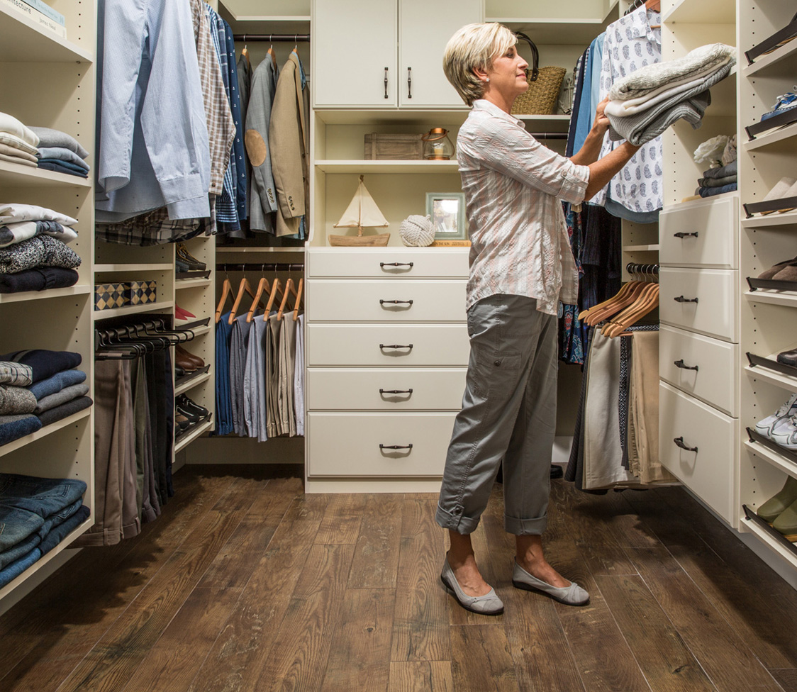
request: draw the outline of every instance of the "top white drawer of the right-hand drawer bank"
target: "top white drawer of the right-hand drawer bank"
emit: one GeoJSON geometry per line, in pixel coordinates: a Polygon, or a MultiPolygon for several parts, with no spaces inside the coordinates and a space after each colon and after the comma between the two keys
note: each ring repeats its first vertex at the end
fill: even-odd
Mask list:
{"type": "Polygon", "coordinates": [[[738,226],[736,197],[665,209],[659,215],[659,260],[662,266],[738,269],[738,226]]]}

